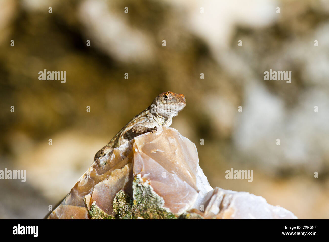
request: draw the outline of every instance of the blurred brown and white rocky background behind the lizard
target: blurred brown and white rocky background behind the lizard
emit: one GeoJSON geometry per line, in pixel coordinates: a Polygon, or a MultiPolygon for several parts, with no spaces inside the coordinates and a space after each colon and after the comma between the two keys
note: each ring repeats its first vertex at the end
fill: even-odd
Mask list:
{"type": "Polygon", "coordinates": [[[211,186],[329,218],[328,1],[1,0],[0,33],[0,170],[27,171],[0,180],[0,219],[43,218],[164,91],[186,96],[171,126],[211,186]],[[225,179],[231,168],[253,181],[225,179]]]}

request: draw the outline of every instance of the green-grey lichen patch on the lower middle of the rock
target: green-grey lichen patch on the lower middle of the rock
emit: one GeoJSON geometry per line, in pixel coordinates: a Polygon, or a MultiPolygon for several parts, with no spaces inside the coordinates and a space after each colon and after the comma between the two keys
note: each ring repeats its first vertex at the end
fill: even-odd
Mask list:
{"type": "Polygon", "coordinates": [[[131,200],[122,190],[116,194],[113,202],[116,219],[176,219],[164,208],[164,199],[140,175],[133,181],[133,198],[131,200]]]}

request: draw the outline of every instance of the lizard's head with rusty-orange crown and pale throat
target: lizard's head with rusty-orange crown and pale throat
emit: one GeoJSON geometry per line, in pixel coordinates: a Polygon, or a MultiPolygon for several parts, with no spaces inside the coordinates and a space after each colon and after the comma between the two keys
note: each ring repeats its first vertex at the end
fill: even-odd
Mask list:
{"type": "Polygon", "coordinates": [[[183,94],[176,94],[172,92],[164,92],[158,95],[153,103],[156,107],[156,112],[166,118],[178,115],[185,107],[185,96],[183,94]]]}

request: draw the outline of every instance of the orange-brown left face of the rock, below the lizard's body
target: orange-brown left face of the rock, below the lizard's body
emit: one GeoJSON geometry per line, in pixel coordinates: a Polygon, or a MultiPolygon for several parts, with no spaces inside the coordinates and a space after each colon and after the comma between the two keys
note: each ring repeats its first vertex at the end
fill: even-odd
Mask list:
{"type": "Polygon", "coordinates": [[[131,145],[126,144],[114,149],[109,157],[102,158],[102,161],[106,162],[103,167],[93,162],[48,219],[67,218],[63,215],[66,211],[64,207],[67,205],[76,207],[76,210],[70,210],[73,217],[90,218],[89,212],[93,202],[96,202],[96,205],[107,215],[115,216],[113,212],[115,195],[120,190],[124,190],[132,196],[133,152],[131,148],[131,145]]]}

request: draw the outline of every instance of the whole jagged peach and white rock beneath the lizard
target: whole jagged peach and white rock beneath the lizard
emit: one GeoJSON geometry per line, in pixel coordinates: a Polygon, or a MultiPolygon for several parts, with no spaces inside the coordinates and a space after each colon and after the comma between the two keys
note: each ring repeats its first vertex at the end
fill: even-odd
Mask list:
{"type": "Polygon", "coordinates": [[[297,219],[246,192],[213,189],[195,145],[173,128],[93,163],[48,219],[297,219]]]}

